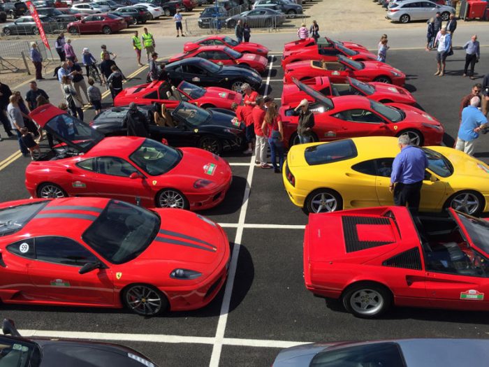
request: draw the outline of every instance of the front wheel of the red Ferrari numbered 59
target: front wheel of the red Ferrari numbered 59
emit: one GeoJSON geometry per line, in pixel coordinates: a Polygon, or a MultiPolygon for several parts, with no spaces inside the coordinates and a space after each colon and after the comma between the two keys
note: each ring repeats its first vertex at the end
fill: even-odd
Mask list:
{"type": "Polygon", "coordinates": [[[159,315],[168,310],[169,306],[168,298],[163,292],[144,283],[128,285],[122,290],[121,298],[122,304],[128,310],[143,316],[159,315]]]}

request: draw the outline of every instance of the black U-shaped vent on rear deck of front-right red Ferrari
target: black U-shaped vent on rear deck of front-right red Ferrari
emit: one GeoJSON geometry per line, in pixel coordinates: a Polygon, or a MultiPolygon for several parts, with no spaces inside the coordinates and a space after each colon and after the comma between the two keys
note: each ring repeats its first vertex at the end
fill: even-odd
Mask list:
{"type": "Polygon", "coordinates": [[[355,217],[353,215],[345,215],[342,217],[344,244],[346,252],[355,252],[365,250],[367,248],[388,245],[391,242],[385,241],[360,241],[356,231],[357,224],[387,224],[391,222],[384,217],[355,217]]]}

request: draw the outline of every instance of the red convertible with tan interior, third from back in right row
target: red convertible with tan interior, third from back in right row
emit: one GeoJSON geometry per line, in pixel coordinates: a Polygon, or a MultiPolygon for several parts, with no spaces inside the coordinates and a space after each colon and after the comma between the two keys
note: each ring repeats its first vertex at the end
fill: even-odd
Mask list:
{"type": "Polygon", "coordinates": [[[328,76],[332,82],[340,82],[346,76],[352,76],[362,82],[386,82],[402,87],[406,80],[402,71],[384,62],[356,62],[344,56],[338,56],[336,62],[292,62],[285,66],[284,73],[284,82],[292,82],[292,78],[304,80],[315,76],[328,76]]]}

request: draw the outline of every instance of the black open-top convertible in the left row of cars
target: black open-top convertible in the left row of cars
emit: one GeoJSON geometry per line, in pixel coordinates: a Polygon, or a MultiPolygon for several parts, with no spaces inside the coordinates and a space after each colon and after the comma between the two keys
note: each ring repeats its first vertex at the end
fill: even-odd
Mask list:
{"type": "MultiPolygon", "coordinates": [[[[235,113],[221,108],[204,110],[188,102],[180,102],[174,110],[168,109],[175,127],[161,127],[154,123],[154,107],[138,106],[149,121],[152,139],[174,147],[200,147],[214,154],[225,150],[242,149],[245,142],[244,124],[234,123],[235,113]]],[[[124,117],[129,106],[113,107],[96,115],[90,126],[105,136],[126,135],[124,117]]]]}

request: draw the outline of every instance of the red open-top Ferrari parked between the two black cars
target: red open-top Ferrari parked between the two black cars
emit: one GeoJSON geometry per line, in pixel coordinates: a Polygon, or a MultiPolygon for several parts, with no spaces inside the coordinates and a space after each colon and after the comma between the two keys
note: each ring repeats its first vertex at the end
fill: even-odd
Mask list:
{"type": "Polygon", "coordinates": [[[241,103],[242,94],[219,87],[198,87],[189,82],[180,82],[177,88],[165,81],[136,85],[122,89],[114,99],[114,106],[127,106],[131,102],[138,104],[164,103],[167,108],[176,108],[180,101],[189,102],[202,108],[231,109],[233,102],[241,103]]]}

